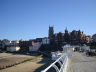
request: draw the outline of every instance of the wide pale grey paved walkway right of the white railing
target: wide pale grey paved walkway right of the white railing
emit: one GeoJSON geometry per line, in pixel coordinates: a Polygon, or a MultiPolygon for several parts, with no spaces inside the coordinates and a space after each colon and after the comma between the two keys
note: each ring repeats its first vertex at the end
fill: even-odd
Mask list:
{"type": "Polygon", "coordinates": [[[96,72],[96,57],[87,57],[84,53],[73,52],[69,57],[68,72],[96,72]]]}

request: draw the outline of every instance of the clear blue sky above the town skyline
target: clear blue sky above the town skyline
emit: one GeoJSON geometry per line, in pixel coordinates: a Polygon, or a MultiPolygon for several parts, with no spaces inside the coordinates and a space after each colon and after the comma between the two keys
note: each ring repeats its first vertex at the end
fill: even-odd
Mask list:
{"type": "Polygon", "coordinates": [[[0,0],[0,39],[28,40],[81,30],[96,33],[96,0],[0,0]]]}

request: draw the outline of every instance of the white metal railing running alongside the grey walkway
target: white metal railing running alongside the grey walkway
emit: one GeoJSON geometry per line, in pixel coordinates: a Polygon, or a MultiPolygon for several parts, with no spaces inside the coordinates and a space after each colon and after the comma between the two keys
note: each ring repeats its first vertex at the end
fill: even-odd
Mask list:
{"type": "MultiPolygon", "coordinates": [[[[53,68],[56,72],[66,72],[68,65],[68,56],[70,53],[63,54],[58,58],[54,63],[41,72],[50,72],[50,69],[53,68]],[[58,64],[58,65],[57,65],[58,64]]],[[[51,71],[52,72],[52,71],[51,71]]]]}

